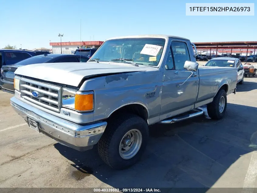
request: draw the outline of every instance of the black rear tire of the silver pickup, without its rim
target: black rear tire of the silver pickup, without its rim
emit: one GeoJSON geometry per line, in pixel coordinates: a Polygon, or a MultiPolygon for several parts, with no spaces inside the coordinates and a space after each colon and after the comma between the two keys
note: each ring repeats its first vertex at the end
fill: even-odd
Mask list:
{"type": "Polygon", "coordinates": [[[226,92],[222,89],[218,91],[217,95],[213,99],[213,102],[207,105],[207,112],[210,118],[219,120],[224,117],[226,109],[227,109],[227,95],[226,95],[226,92]],[[222,112],[220,112],[219,110],[219,103],[220,103],[221,97],[224,97],[224,100],[225,100],[225,106],[222,112]]]}

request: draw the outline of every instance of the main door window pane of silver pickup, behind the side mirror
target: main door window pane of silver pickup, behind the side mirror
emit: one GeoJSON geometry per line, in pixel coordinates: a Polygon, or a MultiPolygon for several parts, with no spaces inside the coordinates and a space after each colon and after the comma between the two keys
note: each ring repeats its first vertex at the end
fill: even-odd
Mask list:
{"type": "Polygon", "coordinates": [[[182,41],[172,41],[171,47],[175,61],[175,69],[184,69],[186,60],[190,61],[186,43],[182,41]]]}

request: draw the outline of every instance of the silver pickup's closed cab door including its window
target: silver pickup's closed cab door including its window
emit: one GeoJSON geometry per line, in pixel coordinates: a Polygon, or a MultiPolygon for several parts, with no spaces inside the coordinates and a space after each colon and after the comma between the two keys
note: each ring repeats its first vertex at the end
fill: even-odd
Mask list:
{"type": "Polygon", "coordinates": [[[185,72],[188,71],[184,69],[186,60],[191,60],[186,40],[172,40],[164,66],[160,120],[193,109],[199,84],[198,70],[182,86],[178,86],[191,74],[185,72]]]}

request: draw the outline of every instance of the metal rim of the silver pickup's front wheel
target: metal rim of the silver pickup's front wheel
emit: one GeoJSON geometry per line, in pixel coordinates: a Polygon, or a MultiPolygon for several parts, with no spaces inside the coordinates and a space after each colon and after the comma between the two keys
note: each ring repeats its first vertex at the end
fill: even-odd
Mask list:
{"type": "Polygon", "coordinates": [[[137,129],[129,130],[121,139],[119,152],[123,159],[134,157],[142,144],[142,134],[137,129]]]}

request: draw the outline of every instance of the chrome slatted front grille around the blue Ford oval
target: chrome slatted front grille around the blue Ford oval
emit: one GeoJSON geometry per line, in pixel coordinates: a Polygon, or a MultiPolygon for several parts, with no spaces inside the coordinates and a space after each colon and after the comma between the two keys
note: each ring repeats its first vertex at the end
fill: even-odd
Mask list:
{"type": "Polygon", "coordinates": [[[60,112],[61,109],[61,87],[51,84],[41,83],[38,81],[21,78],[20,80],[21,97],[25,100],[35,103],[36,105],[47,109],[60,112]],[[40,95],[35,97],[32,92],[35,91],[40,95]]]}

